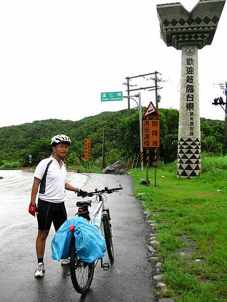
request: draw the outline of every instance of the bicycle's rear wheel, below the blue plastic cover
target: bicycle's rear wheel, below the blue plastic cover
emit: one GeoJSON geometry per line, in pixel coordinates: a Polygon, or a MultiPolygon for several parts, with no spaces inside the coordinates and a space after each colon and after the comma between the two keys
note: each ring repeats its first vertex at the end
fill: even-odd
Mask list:
{"type": "Polygon", "coordinates": [[[75,236],[72,236],[70,248],[70,273],[73,287],[79,293],[86,293],[94,275],[94,262],[82,262],[76,253],[75,236]]]}

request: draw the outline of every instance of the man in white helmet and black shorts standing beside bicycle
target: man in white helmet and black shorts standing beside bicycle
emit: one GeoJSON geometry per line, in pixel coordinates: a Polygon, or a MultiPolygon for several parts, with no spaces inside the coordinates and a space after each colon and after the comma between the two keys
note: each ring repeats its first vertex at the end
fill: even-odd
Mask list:
{"type": "MultiPolygon", "coordinates": [[[[67,220],[65,208],[65,189],[86,195],[87,191],[75,188],[66,181],[66,165],[62,159],[69,152],[71,140],[64,134],[51,138],[52,156],[42,160],[35,169],[34,183],[31,192],[29,213],[35,216],[37,213],[38,235],[36,238],[36,254],[38,258],[35,277],[42,277],[45,272],[43,255],[46,238],[53,222],[55,231],[67,220]],[[36,207],[36,195],[38,192],[38,204],[36,207]]],[[[62,259],[62,264],[68,264],[69,259],[62,259]]]]}

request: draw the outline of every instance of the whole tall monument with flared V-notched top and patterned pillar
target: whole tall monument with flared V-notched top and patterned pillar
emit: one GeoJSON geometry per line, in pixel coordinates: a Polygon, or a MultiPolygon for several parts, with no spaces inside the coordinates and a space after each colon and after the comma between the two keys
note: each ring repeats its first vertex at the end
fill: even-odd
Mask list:
{"type": "Polygon", "coordinates": [[[157,5],[162,40],[182,50],[177,171],[181,178],[201,173],[198,49],[212,43],[224,3],[200,0],[191,12],[180,3],[157,5]]]}

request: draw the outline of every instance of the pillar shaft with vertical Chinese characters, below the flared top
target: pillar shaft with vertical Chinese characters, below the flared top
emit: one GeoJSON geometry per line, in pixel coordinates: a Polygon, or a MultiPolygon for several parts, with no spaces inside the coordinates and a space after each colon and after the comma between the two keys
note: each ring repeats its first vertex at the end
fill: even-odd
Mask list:
{"type": "Polygon", "coordinates": [[[181,97],[178,131],[178,176],[201,172],[198,46],[182,46],[181,97]]]}

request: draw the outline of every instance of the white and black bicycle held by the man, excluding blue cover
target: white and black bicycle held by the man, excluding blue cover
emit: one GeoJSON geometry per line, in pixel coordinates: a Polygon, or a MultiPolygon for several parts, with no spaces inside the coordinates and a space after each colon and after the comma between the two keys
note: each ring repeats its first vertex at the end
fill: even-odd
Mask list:
{"type": "MultiPolygon", "coordinates": [[[[79,217],[85,218],[88,222],[92,223],[93,225],[97,226],[99,230],[102,232],[105,243],[106,243],[106,249],[108,258],[110,261],[110,265],[112,265],[114,260],[114,254],[113,254],[113,244],[112,244],[112,226],[111,226],[111,217],[109,213],[109,209],[104,207],[104,202],[107,200],[107,197],[104,195],[104,193],[111,194],[113,192],[119,192],[119,190],[122,190],[121,184],[119,185],[119,188],[112,188],[108,189],[105,187],[104,189],[95,189],[93,192],[88,192],[84,197],[92,197],[96,195],[96,203],[98,203],[96,209],[94,210],[93,214],[90,215],[88,207],[91,206],[91,200],[81,200],[76,203],[76,206],[78,207],[78,212],[75,215],[78,215],[79,217]]],[[[77,194],[79,195],[79,193],[77,194]]],[[[103,263],[103,259],[98,259],[101,262],[101,268],[104,270],[108,270],[110,265],[109,263],[103,263]]],[[[75,236],[72,236],[71,240],[71,247],[70,247],[70,274],[71,274],[71,280],[73,283],[73,287],[75,290],[79,293],[86,293],[88,289],[91,286],[91,282],[93,280],[94,275],[94,269],[95,266],[98,263],[98,260],[92,263],[85,263],[82,262],[76,252],[75,248],[75,236]]]]}

